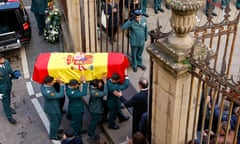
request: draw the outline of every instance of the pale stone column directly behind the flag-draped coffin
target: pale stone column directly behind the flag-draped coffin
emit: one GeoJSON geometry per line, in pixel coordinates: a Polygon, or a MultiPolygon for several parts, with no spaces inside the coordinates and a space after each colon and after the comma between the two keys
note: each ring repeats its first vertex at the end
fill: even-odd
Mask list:
{"type": "Polygon", "coordinates": [[[96,47],[95,0],[67,0],[68,26],[75,52],[96,47]]]}

